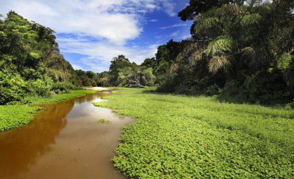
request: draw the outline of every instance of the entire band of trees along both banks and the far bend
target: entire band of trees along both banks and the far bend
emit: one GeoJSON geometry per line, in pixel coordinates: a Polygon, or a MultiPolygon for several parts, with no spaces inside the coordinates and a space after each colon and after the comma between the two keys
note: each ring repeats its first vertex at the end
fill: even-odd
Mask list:
{"type": "Polygon", "coordinates": [[[190,0],[178,16],[194,22],[190,38],[159,46],[141,65],[119,55],[97,74],[73,70],[53,30],[11,11],[0,21],[0,104],[74,86],[155,86],[232,102],[293,102],[293,0],[190,0]]]}

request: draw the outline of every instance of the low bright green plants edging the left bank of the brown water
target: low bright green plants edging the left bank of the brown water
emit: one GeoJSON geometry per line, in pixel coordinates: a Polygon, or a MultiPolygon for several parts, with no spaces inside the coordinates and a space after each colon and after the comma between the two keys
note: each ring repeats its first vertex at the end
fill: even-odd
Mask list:
{"type": "MultiPolygon", "coordinates": [[[[54,95],[49,98],[27,97],[25,100],[28,100],[33,104],[58,102],[94,92],[96,92],[96,90],[74,90],[69,94],[54,95]]],[[[33,119],[35,111],[40,109],[43,108],[28,105],[0,105],[0,131],[25,125],[33,119]]]]}

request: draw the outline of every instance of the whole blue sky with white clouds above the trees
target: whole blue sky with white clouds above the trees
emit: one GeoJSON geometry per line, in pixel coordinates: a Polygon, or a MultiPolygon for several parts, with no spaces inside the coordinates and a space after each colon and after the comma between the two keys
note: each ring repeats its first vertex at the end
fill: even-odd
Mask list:
{"type": "Polygon", "coordinates": [[[189,0],[0,0],[0,14],[13,10],[53,29],[61,54],[74,69],[103,72],[120,54],[141,64],[170,39],[190,36],[192,22],[177,16],[189,0]]]}

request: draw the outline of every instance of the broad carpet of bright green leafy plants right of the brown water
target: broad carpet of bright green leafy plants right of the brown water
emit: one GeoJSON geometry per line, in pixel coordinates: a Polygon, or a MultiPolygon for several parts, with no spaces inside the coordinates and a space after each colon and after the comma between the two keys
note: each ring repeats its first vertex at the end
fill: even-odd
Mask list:
{"type": "Polygon", "coordinates": [[[122,89],[95,105],[137,118],[114,166],[131,178],[294,178],[294,110],[122,89]]]}

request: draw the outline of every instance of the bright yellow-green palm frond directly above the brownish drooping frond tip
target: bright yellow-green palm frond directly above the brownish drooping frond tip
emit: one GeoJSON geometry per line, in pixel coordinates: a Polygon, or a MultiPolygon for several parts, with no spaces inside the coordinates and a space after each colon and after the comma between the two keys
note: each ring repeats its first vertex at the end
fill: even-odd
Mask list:
{"type": "Polygon", "coordinates": [[[214,41],[210,42],[205,53],[207,56],[214,56],[218,54],[224,54],[227,51],[231,51],[233,46],[233,39],[229,36],[220,36],[214,41]]]}

